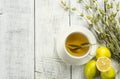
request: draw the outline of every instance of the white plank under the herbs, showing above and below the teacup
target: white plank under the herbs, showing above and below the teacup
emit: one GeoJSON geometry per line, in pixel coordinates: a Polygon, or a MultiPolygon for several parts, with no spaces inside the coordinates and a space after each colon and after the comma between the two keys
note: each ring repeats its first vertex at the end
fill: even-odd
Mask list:
{"type": "MultiPolygon", "coordinates": [[[[92,15],[93,13],[86,12],[84,4],[90,3],[89,0],[83,0],[84,3],[77,3],[77,0],[70,0],[71,7],[76,7],[77,12],[71,13],[71,26],[72,27],[87,27],[88,24],[86,20],[79,17],[79,13],[84,13],[85,15],[92,15]]],[[[104,4],[101,0],[98,0],[99,7],[104,8],[104,4]]],[[[72,79],[86,79],[84,75],[84,65],[72,66],[72,79]]],[[[99,78],[97,78],[99,79],[99,78]]]]}

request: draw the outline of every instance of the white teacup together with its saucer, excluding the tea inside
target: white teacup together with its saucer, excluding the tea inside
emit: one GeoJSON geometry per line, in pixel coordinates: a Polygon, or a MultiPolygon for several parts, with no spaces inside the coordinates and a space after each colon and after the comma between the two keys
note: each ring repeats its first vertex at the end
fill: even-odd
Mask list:
{"type": "Polygon", "coordinates": [[[70,65],[83,65],[91,60],[95,56],[95,51],[97,45],[91,45],[87,53],[83,56],[73,56],[71,55],[65,47],[67,37],[74,33],[81,33],[85,35],[90,44],[96,44],[96,38],[93,33],[85,27],[69,27],[64,29],[63,32],[57,35],[57,53],[58,56],[65,62],[70,65]]]}

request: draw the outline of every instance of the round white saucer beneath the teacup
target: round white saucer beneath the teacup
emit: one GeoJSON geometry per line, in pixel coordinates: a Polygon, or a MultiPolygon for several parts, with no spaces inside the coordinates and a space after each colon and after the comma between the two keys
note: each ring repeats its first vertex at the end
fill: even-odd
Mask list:
{"type": "Polygon", "coordinates": [[[58,53],[58,56],[67,64],[70,64],[70,65],[83,65],[85,63],[87,63],[89,60],[91,60],[94,56],[95,56],[95,50],[97,48],[97,45],[93,45],[91,46],[92,47],[92,50],[89,51],[91,53],[89,53],[85,58],[83,59],[71,59],[67,54],[66,54],[66,51],[65,51],[65,48],[64,48],[64,42],[65,42],[65,38],[66,36],[71,33],[71,32],[74,32],[74,31],[86,31],[86,33],[88,33],[89,37],[92,38],[93,40],[93,43],[95,44],[96,43],[96,39],[94,37],[94,35],[92,34],[91,31],[89,31],[87,28],[85,27],[69,27],[69,28],[66,28],[63,30],[63,32],[59,33],[57,35],[57,53],[58,53]]]}

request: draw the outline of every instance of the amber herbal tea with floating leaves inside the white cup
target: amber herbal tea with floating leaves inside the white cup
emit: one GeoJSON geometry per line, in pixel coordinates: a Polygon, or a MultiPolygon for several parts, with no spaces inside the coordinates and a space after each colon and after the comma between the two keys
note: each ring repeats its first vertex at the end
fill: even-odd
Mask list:
{"type": "Polygon", "coordinates": [[[89,41],[85,35],[79,32],[71,33],[66,39],[66,49],[73,56],[83,56],[88,50],[89,41]]]}

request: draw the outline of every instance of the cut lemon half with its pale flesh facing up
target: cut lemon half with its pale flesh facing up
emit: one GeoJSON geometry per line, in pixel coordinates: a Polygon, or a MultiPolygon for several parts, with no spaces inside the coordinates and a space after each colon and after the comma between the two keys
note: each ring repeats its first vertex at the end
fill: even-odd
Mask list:
{"type": "Polygon", "coordinates": [[[100,57],[96,62],[97,69],[101,72],[106,72],[111,67],[111,60],[108,57],[100,57]]]}

